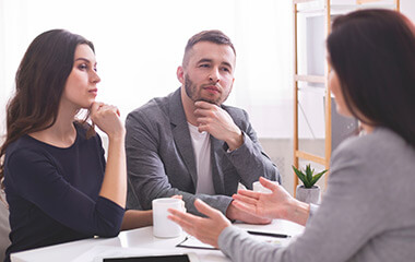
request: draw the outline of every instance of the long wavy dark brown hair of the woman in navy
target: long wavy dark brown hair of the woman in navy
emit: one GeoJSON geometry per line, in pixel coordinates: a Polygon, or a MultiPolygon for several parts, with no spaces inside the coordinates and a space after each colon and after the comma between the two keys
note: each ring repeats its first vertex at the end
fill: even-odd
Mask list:
{"type": "Polygon", "coordinates": [[[50,128],[78,45],[94,45],[80,35],[52,29],[38,35],[28,46],[16,75],[15,93],[7,106],[7,134],[0,148],[0,181],[3,188],[3,156],[7,147],[22,135],[50,128]]]}

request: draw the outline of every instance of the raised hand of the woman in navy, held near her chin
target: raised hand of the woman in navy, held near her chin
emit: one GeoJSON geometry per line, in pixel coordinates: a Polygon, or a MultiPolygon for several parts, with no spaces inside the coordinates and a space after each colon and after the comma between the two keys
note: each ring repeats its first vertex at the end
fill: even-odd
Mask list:
{"type": "Polygon", "coordinates": [[[126,129],[119,116],[120,112],[115,106],[104,103],[93,103],[91,106],[92,121],[103,130],[108,138],[124,135],[126,129]]]}

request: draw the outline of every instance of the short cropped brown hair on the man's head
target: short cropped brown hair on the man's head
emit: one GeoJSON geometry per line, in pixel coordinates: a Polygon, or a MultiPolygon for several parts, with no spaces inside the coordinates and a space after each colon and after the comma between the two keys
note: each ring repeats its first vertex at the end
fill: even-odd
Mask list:
{"type": "Polygon", "coordinates": [[[185,48],[185,56],[183,56],[183,61],[182,61],[183,67],[186,67],[189,61],[189,51],[199,41],[210,41],[217,45],[227,45],[234,50],[234,53],[236,56],[234,44],[232,44],[230,38],[224,33],[222,33],[222,31],[218,31],[218,29],[202,31],[193,35],[192,37],[190,37],[190,39],[188,40],[188,44],[186,45],[186,48],[185,48]]]}

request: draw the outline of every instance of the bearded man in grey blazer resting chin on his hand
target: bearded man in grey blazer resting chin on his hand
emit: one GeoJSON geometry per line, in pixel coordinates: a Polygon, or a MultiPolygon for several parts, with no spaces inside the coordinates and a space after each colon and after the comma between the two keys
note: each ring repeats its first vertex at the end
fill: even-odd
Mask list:
{"type": "Polygon", "coordinates": [[[128,209],[150,210],[154,199],[181,194],[193,214],[199,198],[229,219],[268,222],[232,204],[238,182],[251,189],[261,176],[280,181],[247,112],[223,105],[234,84],[235,58],[222,32],[194,35],[177,69],[181,87],[128,115],[128,209]]]}

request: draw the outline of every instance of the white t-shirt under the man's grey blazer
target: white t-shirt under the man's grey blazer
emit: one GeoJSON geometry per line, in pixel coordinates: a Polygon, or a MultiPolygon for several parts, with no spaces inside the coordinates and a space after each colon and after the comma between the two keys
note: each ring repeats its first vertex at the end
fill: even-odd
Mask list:
{"type": "Polygon", "coordinates": [[[208,132],[199,132],[198,128],[188,122],[191,142],[195,156],[198,184],[195,193],[215,194],[212,180],[211,136],[208,132]]]}

